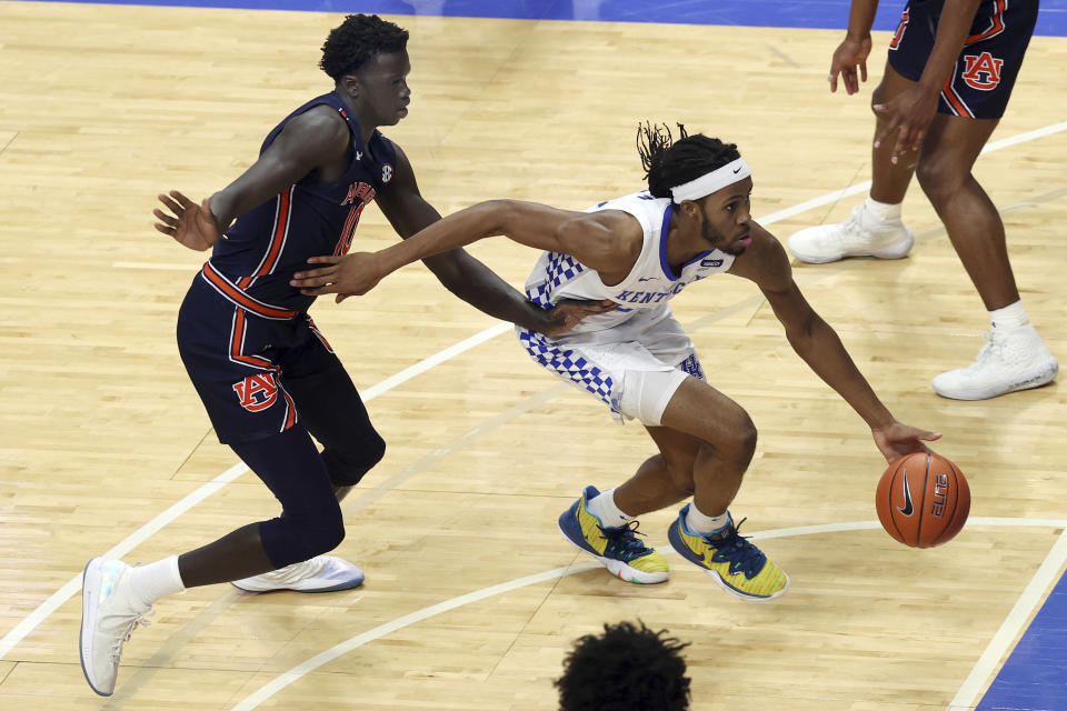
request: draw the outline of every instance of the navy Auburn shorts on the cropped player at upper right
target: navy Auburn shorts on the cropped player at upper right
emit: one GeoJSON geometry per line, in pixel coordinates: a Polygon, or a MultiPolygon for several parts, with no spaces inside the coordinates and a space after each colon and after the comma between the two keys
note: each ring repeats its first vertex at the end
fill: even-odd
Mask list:
{"type": "MultiPolygon", "coordinates": [[[[889,64],[918,81],[934,49],[941,2],[911,0],[889,43],[889,64]]],[[[1037,23],[1038,0],[983,0],[938,112],[970,119],[1004,116],[1015,78],[1037,23]]]]}

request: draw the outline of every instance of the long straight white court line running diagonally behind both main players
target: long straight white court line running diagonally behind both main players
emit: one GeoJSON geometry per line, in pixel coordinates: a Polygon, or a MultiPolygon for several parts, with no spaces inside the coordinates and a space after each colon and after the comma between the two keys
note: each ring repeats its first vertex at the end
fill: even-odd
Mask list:
{"type": "MultiPolygon", "coordinates": [[[[986,148],[981,151],[983,153],[989,153],[1003,148],[1008,148],[1010,146],[1016,146],[1018,143],[1025,143],[1026,141],[1033,141],[1038,138],[1044,138],[1053,133],[1058,133],[1060,131],[1067,130],[1067,121],[1060,123],[1053,123],[1040,129],[1035,129],[1033,131],[1026,131],[1025,133],[1018,133],[1016,136],[1000,139],[998,141],[993,141],[987,143],[986,148]]],[[[777,222],[778,220],[784,220],[786,218],[799,214],[805,210],[810,210],[811,208],[817,208],[819,206],[828,204],[840,200],[844,197],[856,194],[857,192],[862,192],[870,187],[870,181],[865,183],[859,183],[845,190],[835,190],[834,192],[827,193],[821,198],[815,198],[814,200],[808,200],[807,202],[801,202],[800,204],[794,206],[792,208],[787,208],[785,210],[779,210],[778,212],[772,212],[761,220],[757,220],[760,224],[767,226],[777,222]]],[[[363,400],[369,401],[371,398],[386,392],[391,388],[396,388],[400,383],[415,378],[416,375],[429,370],[430,368],[440,364],[449,358],[455,358],[465,350],[469,350],[475,346],[478,346],[505,331],[509,330],[511,327],[510,323],[498,323],[492,328],[486,329],[480,333],[468,338],[456,346],[452,346],[439,353],[430,356],[429,358],[419,361],[415,365],[406,368],[396,375],[387,378],[377,385],[371,387],[370,389],[363,391],[363,400]],[[446,357],[445,354],[448,353],[446,357]]],[[[200,503],[212,493],[222,488],[222,485],[230,483],[241,474],[248,471],[248,468],[243,462],[235,464],[230,469],[226,470],[211,481],[206,484],[202,484],[199,489],[192,493],[186,495],[172,507],[158,514],[154,519],[134,531],[129,538],[123,540],[121,543],[112,548],[106,553],[107,557],[119,557],[124,554],[129,550],[136,548],[153,533],[159,531],[161,528],[180,517],[182,513],[200,503]],[[112,555],[114,553],[114,555],[112,555]]],[[[14,649],[14,647],[21,642],[27,634],[32,632],[41,622],[43,622],[52,612],[59,609],[67,600],[69,600],[78,590],[81,588],[81,574],[77,574],[71,578],[67,584],[57,590],[52,595],[42,602],[33,612],[27,615],[21,622],[19,622],[14,629],[3,635],[3,639],[0,639],[0,659],[3,659],[8,653],[14,649]]]]}

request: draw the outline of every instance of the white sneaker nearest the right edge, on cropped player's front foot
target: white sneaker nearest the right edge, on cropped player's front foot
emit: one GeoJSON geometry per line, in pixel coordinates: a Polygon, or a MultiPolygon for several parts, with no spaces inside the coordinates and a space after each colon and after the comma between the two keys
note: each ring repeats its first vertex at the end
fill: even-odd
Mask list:
{"type": "Polygon", "coordinates": [[[934,390],[954,400],[985,400],[1051,382],[1059,363],[1034,327],[991,329],[967,368],[934,379],[934,390]]]}

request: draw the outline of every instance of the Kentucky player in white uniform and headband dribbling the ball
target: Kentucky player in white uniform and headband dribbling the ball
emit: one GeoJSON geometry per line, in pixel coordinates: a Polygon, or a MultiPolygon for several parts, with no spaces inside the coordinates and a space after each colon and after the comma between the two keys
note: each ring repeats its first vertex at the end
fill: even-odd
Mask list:
{"type": "Polygon", "coordinates": [[[667,563],[635,534],[636,518],[692,497],[671,524],[671,545],[727,592],[768,600],[789,579],[737,532],[729,511],[756,449],[756,427],[712,388],[692,342],[667,302],[717,272],[755,282],[794,350],[870,425],[891,461],[926,450],[940,435],[898,422],[852,363],[834,330],[792,280],[781,244],[749,213],[751,173],[737,147],[705,136],[672,142],[660,127],[639,129],[648,192],[571,212],[517,200],[481,202],[376,253],[310,261],[298,272],[308,294],[362,294],[400,267],[476,240],[505,234],[545,250],[527,296],[550,309],[561,299],[609,299],[615,311],[587,318],[571,333],[517,329],[545,368],[588,390],[619,419],[645,424],[659,453],[626,483],[587,487],[560,515],[564,534],[630,582],[662,582],[667,563]]]}

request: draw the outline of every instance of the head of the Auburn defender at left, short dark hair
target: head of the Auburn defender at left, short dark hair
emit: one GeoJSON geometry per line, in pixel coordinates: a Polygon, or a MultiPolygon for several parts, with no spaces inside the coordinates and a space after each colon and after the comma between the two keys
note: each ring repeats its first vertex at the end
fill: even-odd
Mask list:
{"type": "Polygon", "coordinates": [[[395,126],[408,114],[408,31],[377,14],[350,14],[322,44],[319,68],[360,122],[395,126]]]}

